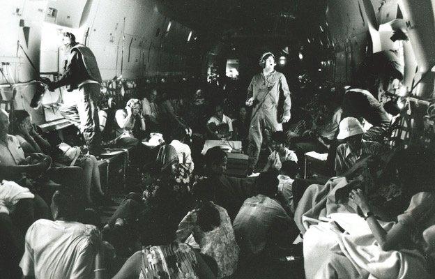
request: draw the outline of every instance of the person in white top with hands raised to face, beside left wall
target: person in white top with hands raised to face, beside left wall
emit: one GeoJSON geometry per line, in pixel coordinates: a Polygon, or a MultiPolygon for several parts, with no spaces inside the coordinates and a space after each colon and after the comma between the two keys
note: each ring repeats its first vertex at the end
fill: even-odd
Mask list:
{"type": "Polygon", "coordinates": [[[115,114],[116,144],[119,146],[136,145],[143,137],[146,129],[145,118],[142,115],[142,104],[139,99],[130,99],[124,110],[117,110],[115,114]]]}

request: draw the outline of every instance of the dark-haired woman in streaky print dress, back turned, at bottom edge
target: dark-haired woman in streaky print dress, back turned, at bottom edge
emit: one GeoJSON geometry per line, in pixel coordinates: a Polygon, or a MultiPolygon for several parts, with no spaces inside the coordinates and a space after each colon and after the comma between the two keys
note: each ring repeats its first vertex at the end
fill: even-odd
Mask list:
{"type": "Polygon", "coordinates": [[[151,207],[146,218],[140,218],[146,236],[144,248],[135,252],[112,279],[143,278],[215,278],[199,252],[186,243],[176,241],[171,197],[167,188],[158,188],[160,206],[151,207]]]}

